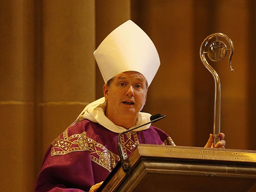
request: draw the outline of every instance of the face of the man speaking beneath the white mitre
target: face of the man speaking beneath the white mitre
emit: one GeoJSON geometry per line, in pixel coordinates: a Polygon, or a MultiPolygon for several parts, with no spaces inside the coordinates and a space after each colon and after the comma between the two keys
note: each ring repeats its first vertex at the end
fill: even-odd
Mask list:
{"type": "Polygon", "coordinates": [[[129,113],[137,115],[146,104],[145,77],[138,72],[118,74],[110,86],[104,85],[107,114],[129,113]]]}

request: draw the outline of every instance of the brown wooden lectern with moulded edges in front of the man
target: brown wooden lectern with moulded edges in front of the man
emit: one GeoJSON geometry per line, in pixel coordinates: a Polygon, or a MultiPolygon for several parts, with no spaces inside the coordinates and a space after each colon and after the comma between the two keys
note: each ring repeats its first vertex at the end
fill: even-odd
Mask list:
{"type": "Polygon", "coordinates": [[[245,192],[256,182],[256,151],[139,144],[97,192],[245,192]]]}

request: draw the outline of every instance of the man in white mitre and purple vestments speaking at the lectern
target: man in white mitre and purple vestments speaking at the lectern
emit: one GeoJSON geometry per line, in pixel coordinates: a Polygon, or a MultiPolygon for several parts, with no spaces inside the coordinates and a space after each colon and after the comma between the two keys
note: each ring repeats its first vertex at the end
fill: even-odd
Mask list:
{"type": "MultiPolygon", "coordinates": [[[[92,102],[52,142],[38,175],[35,192],[95,192],[120,160],[118,134],[150,121],[140,112],[160,60],[150,38],[132,21],[111,32],[94,52],[104,79],[104,98],[92,102]]],[[[224,147],[224,134],[215,147],[224,147]]],[[[123,134],[127,158],[138,143],[175,145],[149,125],[123,134]]],[[[212,135],[205,147],[211,147],[212,135]]]]}

